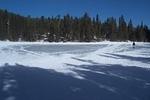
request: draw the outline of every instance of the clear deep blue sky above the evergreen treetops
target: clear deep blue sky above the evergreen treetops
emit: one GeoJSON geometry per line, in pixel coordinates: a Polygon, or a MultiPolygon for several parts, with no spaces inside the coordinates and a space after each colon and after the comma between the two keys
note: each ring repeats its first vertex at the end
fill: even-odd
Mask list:
{"type": "Polygon", "coordinates": [[[88,12],[90,16],[98,13],[105,20],[124,15],[127,21],[131,18],[134,24],[143,21],[150,26],[150,0],[0,0],[0,8],[34,17],[67,13],[81,16],[88,12]]]}

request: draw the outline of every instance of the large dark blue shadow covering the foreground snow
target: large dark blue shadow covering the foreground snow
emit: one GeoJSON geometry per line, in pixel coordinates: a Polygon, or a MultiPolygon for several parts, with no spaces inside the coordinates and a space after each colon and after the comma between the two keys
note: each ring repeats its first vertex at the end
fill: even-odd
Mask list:
{"type": "Polygon", "coordinates": [[[14,100],[150,99],[150,70],[148,69],[121,65],[67,65],[87,69],[74,69],[85,79],[80,80],[54,70],[22,65],[1,67],[0,100],[11,96],[15,97],[14,100]],[[17,83],[17,88],[7,93],[3,91],[6,72],[13,75],[17,83]]]}

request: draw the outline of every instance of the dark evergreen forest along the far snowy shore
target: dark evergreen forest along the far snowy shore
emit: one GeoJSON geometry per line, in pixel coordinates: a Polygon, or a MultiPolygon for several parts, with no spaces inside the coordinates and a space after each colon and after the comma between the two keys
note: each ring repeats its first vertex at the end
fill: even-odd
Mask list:
{"type": "Polygon", "coordinates": [[[148,41],[150,29],[147,25],[135,26],[132,20],[125,21],[124,16],[119,20],[108,17],[105,21],[90,17],[84,13],[81,17],[69,14],[55,17],[21,16],[19,14],[0,10],[0,40],[10,41],[148,41]]]}

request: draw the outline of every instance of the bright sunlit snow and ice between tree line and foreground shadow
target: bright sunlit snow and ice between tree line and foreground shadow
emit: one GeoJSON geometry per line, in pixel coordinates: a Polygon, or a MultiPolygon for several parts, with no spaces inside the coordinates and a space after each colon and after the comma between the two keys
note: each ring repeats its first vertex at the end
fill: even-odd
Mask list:
{"type": "Polygon", "coordinates": [[[65,74],[86,70],[79,65],[121,65],[150,68],[150,43],[136,42],[4,42],[0,41],[0,66],[20,64],[53,69],[65,74]],[[134,60],[130,59],[133,58],[134,60]],[[72,66],[74,65],[74,66],[72,66]]]}

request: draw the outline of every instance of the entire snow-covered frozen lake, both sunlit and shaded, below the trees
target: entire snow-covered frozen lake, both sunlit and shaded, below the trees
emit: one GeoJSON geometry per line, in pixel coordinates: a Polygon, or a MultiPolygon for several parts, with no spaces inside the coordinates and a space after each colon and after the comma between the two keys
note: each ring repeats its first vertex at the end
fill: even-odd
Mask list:
{"type": "Polygon", "coordinates": [[[150,43],[0,42],[0,100],[150,100],[150,43]]]}

